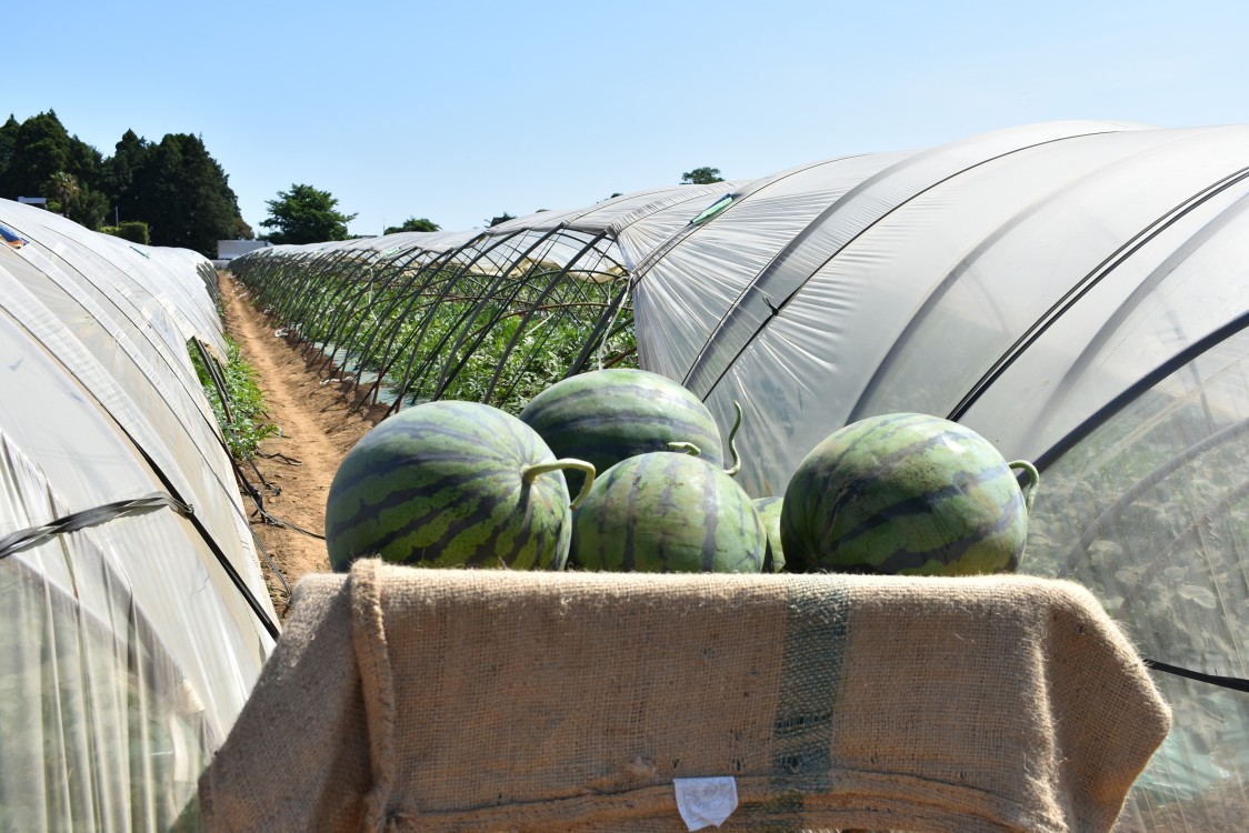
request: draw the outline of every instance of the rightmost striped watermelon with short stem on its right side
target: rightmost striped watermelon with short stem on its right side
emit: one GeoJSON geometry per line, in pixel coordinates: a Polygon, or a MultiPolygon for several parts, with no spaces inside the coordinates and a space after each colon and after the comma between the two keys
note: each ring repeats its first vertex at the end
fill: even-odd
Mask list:
{"type": "Polygon", "coordinates": [[[828,436],[784,493],[787,569],[965,576],[1018,567],[1037,470],[955,422],[888,413],[828,436]],[[1029,472],[1024,495],[1012,467],[1029,472]]]}

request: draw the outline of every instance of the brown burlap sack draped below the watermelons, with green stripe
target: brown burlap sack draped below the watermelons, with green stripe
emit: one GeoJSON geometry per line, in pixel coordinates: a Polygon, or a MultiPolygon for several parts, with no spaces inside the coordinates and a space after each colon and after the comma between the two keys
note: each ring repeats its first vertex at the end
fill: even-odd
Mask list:
{"type": "Polygon", "coordinates": [[[315,576],[200,782],[210,831],[1107,831],[1170,713],[1025,577],[315,576]]]}

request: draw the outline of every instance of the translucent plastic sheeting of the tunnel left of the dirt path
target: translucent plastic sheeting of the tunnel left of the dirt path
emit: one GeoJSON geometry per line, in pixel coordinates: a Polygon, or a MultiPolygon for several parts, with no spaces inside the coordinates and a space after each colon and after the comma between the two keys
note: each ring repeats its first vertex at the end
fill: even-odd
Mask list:
{"type": "Polygon", "coordinates": [[[27,241],[0,247],[0,541],[87,513],[0,557],[0,819],[167,829],[276,633],[187,355],[225,355],[214,270],[7,201],[0,225],[27,241]]]}

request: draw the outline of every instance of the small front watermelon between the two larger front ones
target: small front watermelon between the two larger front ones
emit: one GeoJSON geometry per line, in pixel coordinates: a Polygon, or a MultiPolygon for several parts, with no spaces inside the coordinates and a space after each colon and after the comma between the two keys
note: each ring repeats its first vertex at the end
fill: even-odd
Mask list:
{"type": "Polygon", "coordinates": [[[611,572],[757,573],[767,535],[719,466],[666,451],[601,473],[573,511],[572,561],[611,572]]]}

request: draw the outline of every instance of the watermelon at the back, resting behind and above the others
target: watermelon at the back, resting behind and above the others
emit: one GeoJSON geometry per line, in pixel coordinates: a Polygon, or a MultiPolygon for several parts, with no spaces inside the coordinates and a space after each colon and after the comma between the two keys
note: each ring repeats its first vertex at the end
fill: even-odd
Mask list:
{"type": "MultiPolygon", "coordinates": [[[[702,401],[666,376],[608,368],[570,376],[530,400],[520,413],[557,457],[585,460],[596,472],[669,442],[698,447],[699,457],[724,465],[719,426],[702,401]]],[[[568,490],[581,488],[568,472],[568,490]]]]}

